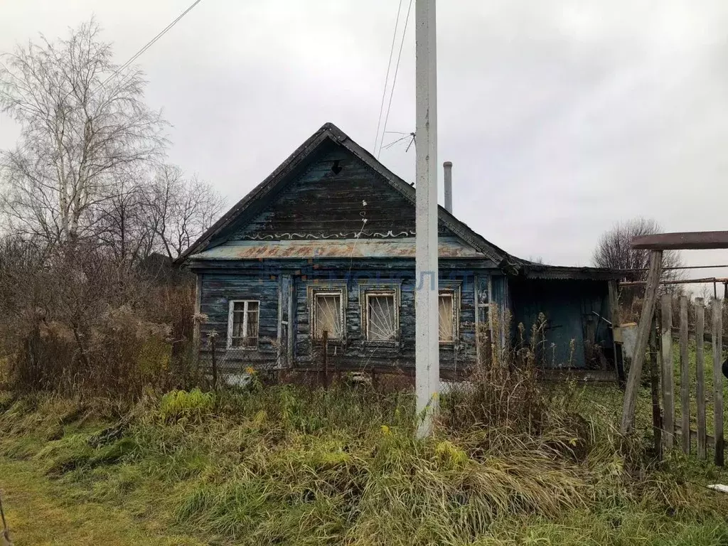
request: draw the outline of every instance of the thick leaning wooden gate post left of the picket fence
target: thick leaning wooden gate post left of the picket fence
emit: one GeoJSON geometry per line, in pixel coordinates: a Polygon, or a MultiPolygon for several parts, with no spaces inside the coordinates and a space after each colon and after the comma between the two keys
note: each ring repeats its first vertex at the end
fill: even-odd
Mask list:
{"type": "Polygon", "coordinates": [[[649,337],[649,326],[652,323],[654,304],[657,300],[657,287],[660,283],[662,272],[662,252],[654,250],[649,258],[649,272],[647,274],[647,285],[645,287],[644,303],[640,321],[637,328],[635,343],[635,354],[630,366],[630,373],[625,389],[625,401],[622,408],[622,433],[631,432],[634,428],[635,405],[637,403],[637,392],[639,389],[642,365],[644,363],[645,350],[649,337]]]}

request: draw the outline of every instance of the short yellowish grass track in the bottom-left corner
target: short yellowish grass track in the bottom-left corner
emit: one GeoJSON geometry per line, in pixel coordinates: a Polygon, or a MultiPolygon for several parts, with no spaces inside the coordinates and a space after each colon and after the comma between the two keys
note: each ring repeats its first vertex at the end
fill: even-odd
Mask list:
{"type": "Polygon", "coordinates": [[[121,509],[74,502],[33,462],[0,457],[0,491],[15,546],[203,544],[121,509]]]}

